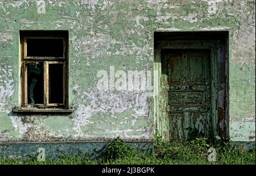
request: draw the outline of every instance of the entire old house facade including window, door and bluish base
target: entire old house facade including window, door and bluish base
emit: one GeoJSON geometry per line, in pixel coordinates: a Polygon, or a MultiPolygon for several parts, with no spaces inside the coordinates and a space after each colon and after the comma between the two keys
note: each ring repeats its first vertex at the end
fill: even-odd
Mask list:
{"type": "Polygon", "coordinates": [[[255,145],[255,1],[0,1],[0,152],[255,145]]]}

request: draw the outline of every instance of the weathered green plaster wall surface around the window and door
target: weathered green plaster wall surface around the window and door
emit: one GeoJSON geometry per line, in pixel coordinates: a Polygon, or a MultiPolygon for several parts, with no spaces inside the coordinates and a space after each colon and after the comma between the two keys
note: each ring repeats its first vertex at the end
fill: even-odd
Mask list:
{"type": "Polygon", "coordinates": [[[0,142],[152,140],[146,93],[98,91],[98,70],[152,70],[154,31],[229,31],[230,136],[255,141],[255,1],[0,1],[0,142]],[[14,115],[19,31],[69,31],[71,115],[14,115]]]}

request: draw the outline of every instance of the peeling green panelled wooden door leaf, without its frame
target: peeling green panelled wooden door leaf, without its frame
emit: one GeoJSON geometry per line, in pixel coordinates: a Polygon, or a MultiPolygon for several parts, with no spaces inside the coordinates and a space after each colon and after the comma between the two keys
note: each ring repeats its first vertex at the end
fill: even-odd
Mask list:
{"type": "Polygon", "coordinates": [[[162,96],[169,140],[212,133],[211,69],[208,49],[169,49],[162,55],[162,96]]]}

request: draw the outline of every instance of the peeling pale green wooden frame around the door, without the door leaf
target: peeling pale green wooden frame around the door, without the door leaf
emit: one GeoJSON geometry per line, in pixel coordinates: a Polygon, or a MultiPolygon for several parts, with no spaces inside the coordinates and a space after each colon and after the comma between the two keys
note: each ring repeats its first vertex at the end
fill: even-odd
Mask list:
{"type": "Polygon", "coordinates": [[[211,104],[210,115],[212,118],[212,136],[217,135],[218,123],[218,74],[217,74],[217,49],[220,41],[214,40],[168,40],[156,41],[154,48],[154,133],[162,136],[163,140],[170,140],[169,121],[164,104],[166,97],[162,93],[162,49],[210,49],[210,88],[211,104]],[[215,87],[215,88],[214,88],[215,87]]]}

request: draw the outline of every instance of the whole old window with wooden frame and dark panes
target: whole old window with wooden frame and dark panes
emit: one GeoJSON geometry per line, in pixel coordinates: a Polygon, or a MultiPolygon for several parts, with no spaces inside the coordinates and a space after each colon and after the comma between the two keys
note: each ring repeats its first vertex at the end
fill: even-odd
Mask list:
{"type": "Polygon", "coordinates": [[[22,107],[67,107],[67,35],[24,32],[21,36],[22,107]]]}

